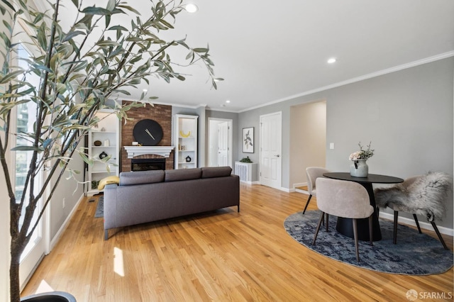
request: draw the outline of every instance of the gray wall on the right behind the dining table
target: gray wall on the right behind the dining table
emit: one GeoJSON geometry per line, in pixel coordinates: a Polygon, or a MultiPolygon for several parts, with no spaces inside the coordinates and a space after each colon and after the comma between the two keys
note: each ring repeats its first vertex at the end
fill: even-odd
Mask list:
{"type": "MultiPolygon", "coordinates": [[[[453,174],[454,57],[384,74],[290,101],[239,114],[241,128],[255,127],[260,145],[259,117],[282,111],[282,187],[290,188],[290,107],[326,99],[326,167],[348,171],[348,155],[358,142],[372,141],[375,155],[370,173],[410,177],[428,171],[453,174]],[[330,142],[335,149],[329,150],[330,142]]],[[[296,138],[292,138],[296,139],[296,138]]],[[[256,149],[250,158],[258,162],[256,149]]],[[[238,147],[238,157],[243,157],[238,147]]],[[[453,196],[443,222],[453,228],[453,196]]]]}

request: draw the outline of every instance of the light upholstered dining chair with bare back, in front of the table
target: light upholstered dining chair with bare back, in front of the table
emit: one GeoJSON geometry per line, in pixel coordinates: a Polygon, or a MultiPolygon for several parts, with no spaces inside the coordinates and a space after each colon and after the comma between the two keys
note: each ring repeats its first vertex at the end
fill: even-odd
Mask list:
{"type": "MultiPolygon", "coordinates": [[[[363,186],[354,181],[318,178],[316,180],[316,186],[317,206],[321,214],[312,244],[315,245],[323,220],[323,214],[351,218],[353,222],[356,260],[359,262],[357,219],[369,218],[369,237],[370,245],[372,245],[372,213],[374,213],[374,207],[370,205],[369,194],[367,194],[363,186]]],[[[328,220],[326,220],[326,229],[328,230],[328,220]]]]}

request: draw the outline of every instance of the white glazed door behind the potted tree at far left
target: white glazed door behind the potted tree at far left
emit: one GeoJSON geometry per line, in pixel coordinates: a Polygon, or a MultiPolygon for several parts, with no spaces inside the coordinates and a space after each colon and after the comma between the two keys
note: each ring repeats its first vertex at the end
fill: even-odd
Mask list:
{"type": "MultiPolygon", "coordinates": [[[[18,57],[23,57],[28,59],[29,53],[23,48],[22,45],[18,46],[18,57]]],[[[22,60],[18,61],[18,64],[24,64],[22,60]]],[[[39,78],[36,77],[35,75],[30,75],[27,80],[28,81],[36,81],[36,86],[39,85],[39,78]]],[[[33,123],[35,123],[35,114],[36,114],[36,104],[33,102],[29,102],[26,104],[21,104],[17,107],[16,111],[16,119],[14,121],[11,121],[11,126],[16,128],[17,132],[25,131],[28,133],[33,132],[33,123]]],[[[21,139],[21,138],[16,138],[16,141],[14,142],[15,145],[27,145],[28,142],[26,140],[21,139]]],[[[11,152],[11,160],[13,161],[13,166],[16,167],[16,169],[13,171],[13,181],[14,181],[14,187],[16,191],[22,191],[23,186],[26,181],[26,172],[28,170],[28,166],[30,165],[31,162],[31,152],[30,151],[15,151],[11,152]]],[[[43,177],[45,172],[40,171],[40,174],[38,174],[38,177],[36,177],[36,180],[40,183],[43,183],[43,177]]],[[[40,188],[40,184],[35,183],[35,187],[40,188]]],[[[43,195],[43,198],[46,198],[46,194],[43,195]]],[[[27,201],[28,194],[26,196],[26,201],[27,201]]],[[[20,200],[21,196],[18,196],[16,194],[16,199],[20,200]]],[[[43,198],[41,199],[40,203],[38,203],[38,208],[35,210],[35,216],[33,217],[33,221],[38,217],[38,213],[40,212],[40,209],[43,206],[43,198]]],[[[48,209],[47,209],[48,210],[48,209]]],[[[22,215],[25,214],[25,211],[23,211],[22,215]]],[[[23,288],[26,285],[26,281],[28,281],[28,278],[31,276],[33,273],[33,270],[35,267],[37,267],[37,264],[40,262],[40,260],[43,258],[45,255],[46,250],[48,249],[48,237],[47,235],[48,232],[48,224],[45,225],[45,221],[48,219],[48,215],[45,215],[41,218],[40,223],[38,225],[38,228],[35,229],[35,232],[33,233],[33,237],[26,246],[26,249],[23,251],[21,255],[21,264],[19,266],[19,279],[21,282],[21,288],[23,288]]],[[[32,221],[32,225],[33,225],[32,221]]]]}

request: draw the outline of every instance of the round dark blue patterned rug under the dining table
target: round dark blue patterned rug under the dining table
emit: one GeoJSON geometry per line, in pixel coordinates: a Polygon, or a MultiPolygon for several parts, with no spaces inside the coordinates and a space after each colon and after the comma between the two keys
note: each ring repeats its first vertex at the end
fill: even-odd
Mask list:
{"type": "MultiPolygon", "coordinates": [[[[284,228],[301,245],[338,261],[377,272],[407,275],[441,274],[453,267],[453,251],[445,250],[438,239],[406,225],[397,227],[397,245],[392,243],[392,221],[380,219],[382,240],[373,246],[359,241],[360,262],[356,261],[355,241],[336,231],[336,216],[329,217],[329,232],[321,226],[315,245],[314,233],[320,211],[294,213],[284,221],[284,228]]],[[[424,232],[424,230],[422,230],[424,232]]]]}

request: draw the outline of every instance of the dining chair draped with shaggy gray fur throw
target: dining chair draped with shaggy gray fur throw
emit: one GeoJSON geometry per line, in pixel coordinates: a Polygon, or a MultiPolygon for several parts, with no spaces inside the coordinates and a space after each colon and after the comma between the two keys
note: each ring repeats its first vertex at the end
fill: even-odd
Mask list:
{"type": "Polygon", "coordinates": [[[394,211],[394,245],[397,243],[399,211],[404,211],[413,214],[419,233],[422,232],[416,215],[425,216],[445,250],[448,250],[445,240],[438,231],[435,219],[441,219],[445,213],[446,197],[448,192],[452,190],[453,179],[444,172],[428,172],[424,175],[409,177],[401,184],[390,188],[375,189],[377,207],[385,208],[388,206],[394,211]]]}

